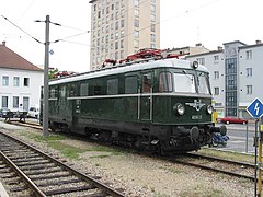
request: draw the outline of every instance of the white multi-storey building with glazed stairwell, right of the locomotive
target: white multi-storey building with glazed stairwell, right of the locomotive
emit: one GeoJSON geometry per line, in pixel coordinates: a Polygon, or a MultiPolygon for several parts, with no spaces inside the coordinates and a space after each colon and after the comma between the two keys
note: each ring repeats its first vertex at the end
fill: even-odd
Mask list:
{"type": "Polygon", "coordinates": [[[218,117],[249,118],[247,106],[255,97],[263,100],[260,85],[262,55],[263,44],[260,40],[255,45],[235,40],[225,43],[224,48],[218,47],[218,50],[186,57],[208,68],[218,117]]]}

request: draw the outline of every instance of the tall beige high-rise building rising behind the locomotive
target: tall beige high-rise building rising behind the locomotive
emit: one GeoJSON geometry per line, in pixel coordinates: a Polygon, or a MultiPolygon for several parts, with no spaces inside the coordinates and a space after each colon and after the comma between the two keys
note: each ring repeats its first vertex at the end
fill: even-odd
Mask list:
{"type": "Polygon", "coordinates": [[[160,48],[160,0],[91,0],[91,70],[141,48],[160,48]]]}

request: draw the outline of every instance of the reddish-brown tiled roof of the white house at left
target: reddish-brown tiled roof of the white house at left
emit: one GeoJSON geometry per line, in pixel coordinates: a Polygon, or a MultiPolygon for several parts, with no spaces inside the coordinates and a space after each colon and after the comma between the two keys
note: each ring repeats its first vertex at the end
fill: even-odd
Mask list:
{"type": "Polygon", "coordinates": [[[15,54],[4,45],[0,45],[0,68],[35,70],[35,71],[43,70],[34,66],[30,61],[27,61],[20,55],[15,54]]]}

